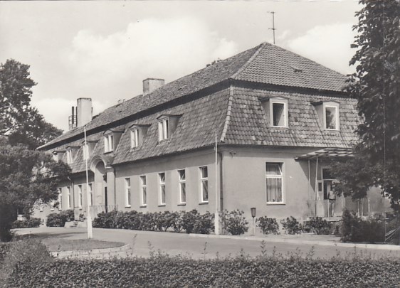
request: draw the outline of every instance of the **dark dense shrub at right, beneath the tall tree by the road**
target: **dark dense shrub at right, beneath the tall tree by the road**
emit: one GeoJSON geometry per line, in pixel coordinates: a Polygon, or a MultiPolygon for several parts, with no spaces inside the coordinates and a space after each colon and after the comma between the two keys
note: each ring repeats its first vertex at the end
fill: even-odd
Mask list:
{"type": "Polygon", "coordinates": [[[381,219],[362,220],[355,213],[344,209],[342,222],[342,242],[384,242],[385,224],[381,219]]]}

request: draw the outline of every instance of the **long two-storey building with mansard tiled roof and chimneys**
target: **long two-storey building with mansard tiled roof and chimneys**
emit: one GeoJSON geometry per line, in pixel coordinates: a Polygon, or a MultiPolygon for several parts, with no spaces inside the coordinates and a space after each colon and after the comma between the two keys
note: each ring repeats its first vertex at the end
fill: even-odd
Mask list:
{"type": "Polygon", "coordinates": [[[59,208],[84,213],[89,199],[93,216],[114,208],[240,209],[250,218],[256,207],[257,216],[298,219],[335,218],[344,206],[381,212],[381,197],[350,203],[330,193],[329,162],[357,142],[357,100],[342,92],[345,80],[263,43],[167,84],[144,80],[142,95],[95,117],[90,98],[80,98],[70,131],[39,149],[72,168],[59,208]]]}

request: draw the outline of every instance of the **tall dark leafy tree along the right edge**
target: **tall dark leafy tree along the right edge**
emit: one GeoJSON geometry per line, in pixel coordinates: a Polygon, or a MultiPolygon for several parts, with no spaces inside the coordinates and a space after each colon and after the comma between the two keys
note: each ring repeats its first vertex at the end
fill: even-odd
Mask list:
{"type": "Polygon", "coordinates": [[[334,164],[340,180],[338,193],[353,198],[366,196],[367,188],[381,187],[393,206],[400,199],[400,3],[366,1],[357,12],[359,35],[350,65],[346,91],[358,100],[362,121],[357,127],[359,143],[354,157],[334,164]]]}

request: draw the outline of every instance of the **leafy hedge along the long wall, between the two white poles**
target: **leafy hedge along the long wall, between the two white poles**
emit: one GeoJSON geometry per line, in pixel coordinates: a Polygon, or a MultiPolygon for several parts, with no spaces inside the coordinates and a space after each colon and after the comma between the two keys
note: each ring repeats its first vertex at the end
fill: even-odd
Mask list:
{"type": "Polygon", "coordinates": [[[130,229],[146,231],[174,231],[209,234],[214,230],[214,214],[200,215],[197,210],[189,212],[142,213],[135,210],[102,212],[93,220],[94,228],[130,229]]]}

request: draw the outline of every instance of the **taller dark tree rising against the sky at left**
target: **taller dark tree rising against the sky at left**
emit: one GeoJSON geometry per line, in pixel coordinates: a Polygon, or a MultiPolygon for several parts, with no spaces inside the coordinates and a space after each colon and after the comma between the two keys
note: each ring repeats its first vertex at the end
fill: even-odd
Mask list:
{"type": "Polygon", "coordinates": [[[6,135],[11,144],[26,144],[31,149],[62,133],[31,107],[34,85],[28,65],[12,59],[0,65],[0,136],[6,135]]]}

